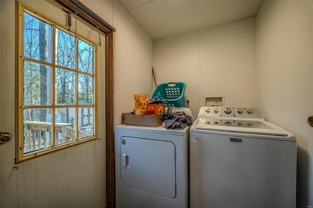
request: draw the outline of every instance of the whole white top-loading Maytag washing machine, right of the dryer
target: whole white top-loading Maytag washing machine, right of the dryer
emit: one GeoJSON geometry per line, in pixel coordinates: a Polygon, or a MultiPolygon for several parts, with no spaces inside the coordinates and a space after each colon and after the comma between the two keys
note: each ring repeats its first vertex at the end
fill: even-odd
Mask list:
{"type": "Polygon", "coordinates": [[[190,208],[295,208],[296,139],[254,107],[201,107],[190,128],[190,208]]]}

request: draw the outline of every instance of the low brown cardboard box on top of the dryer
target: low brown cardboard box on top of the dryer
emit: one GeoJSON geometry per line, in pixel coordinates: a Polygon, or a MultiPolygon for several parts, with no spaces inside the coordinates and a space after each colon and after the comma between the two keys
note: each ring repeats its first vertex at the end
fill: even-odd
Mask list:
{"type": "Polygon", "coordinates": [[[123,113],[122,124],[156,127],[162,124],[162,114],[134,115],[133,113],[123,113]]]}

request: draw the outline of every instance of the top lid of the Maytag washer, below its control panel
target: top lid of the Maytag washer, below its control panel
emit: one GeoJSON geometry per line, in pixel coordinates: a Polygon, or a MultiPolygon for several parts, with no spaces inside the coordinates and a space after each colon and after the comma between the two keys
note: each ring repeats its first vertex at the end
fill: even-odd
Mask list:
{"type": "Polygon", "coordinates": [[[288,136],[289,132],[264,120],[199,118],[195,129],[288,136]]]}

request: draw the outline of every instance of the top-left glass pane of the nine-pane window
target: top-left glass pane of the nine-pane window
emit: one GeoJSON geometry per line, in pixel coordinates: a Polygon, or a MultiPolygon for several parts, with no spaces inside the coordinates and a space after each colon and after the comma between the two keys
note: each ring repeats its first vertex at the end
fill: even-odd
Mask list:
{"type": "Polygon", "coordinates": [[[52,26],[24,12],[24,56],[51,63],[52,26]]]}

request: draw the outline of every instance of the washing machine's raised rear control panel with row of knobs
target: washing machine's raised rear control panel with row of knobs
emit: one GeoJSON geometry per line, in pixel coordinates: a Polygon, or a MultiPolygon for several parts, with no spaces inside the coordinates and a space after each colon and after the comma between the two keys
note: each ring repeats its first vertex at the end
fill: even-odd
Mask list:
{"type": "Polygon", "coordinates": [[[264,119],[256,107],[204,106],[200,108],[198,117],[264,119]]]}

